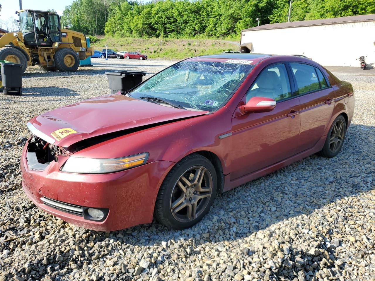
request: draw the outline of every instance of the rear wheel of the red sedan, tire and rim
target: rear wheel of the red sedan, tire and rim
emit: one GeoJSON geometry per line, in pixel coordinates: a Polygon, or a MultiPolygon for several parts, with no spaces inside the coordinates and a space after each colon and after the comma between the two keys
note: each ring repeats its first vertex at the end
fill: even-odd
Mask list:
{"type": "Polygon", "coordinates": [[[341,150],[344,144],[345,133],[347,131],[347,123],[342,115],[339,115],[327,134],[326,142],[324,142],[323,149],[319,152],[321,156],[332,158],[335,157],[341,150]],[[339,137],[340,135],[340,137],[339,137]]]}

